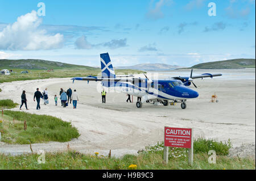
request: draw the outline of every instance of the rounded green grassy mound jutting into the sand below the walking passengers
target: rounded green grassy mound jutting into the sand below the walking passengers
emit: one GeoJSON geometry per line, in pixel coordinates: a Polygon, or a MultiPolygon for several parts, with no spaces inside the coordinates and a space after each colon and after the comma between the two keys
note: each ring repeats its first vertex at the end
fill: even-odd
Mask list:
{"type": "Polygon", "coordinates": [[[0,123],[2,141],[8,144],[34,144],[47,141],[71,141],[80,136],[71,123],[57,117],[4,110],[0,123]],[[13,121],[14,120],[14,121],[13,121]],[[24,131],[24,120],[27,130],[24,131]]]}

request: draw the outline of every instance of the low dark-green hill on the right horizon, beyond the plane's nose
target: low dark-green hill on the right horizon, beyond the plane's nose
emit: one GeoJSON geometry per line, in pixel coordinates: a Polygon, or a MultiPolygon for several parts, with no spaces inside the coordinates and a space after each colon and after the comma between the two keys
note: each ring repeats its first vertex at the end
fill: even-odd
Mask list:
{"type": "Polygon", "coordinates": [[[197,64],[189,69],[245,69],[255,68],[255,59],[233,59],[197,64]]]}

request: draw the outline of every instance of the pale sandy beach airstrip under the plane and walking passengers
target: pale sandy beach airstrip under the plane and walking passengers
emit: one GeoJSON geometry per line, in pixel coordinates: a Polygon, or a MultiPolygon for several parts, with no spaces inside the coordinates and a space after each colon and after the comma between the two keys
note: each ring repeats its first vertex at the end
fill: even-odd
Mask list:
{"type": "MultiPolygon", "coordinates": [[[[186,70],[189,72],[189,70],[186,70]]],[[[208,71],[208,70],[207,70],[208,71]]],[[[234,73],[249,71],[255,77],[255,69],[249,70],[218,70],[218,73],[234,73]]],[[[188,73],[189,74],[189,73],[188,73]]],[[[179,75],[179,71],[177,71],[179,75]]],[[[32,81],[2,83],[0,99],[13,99],[20,103],[22,90],[26,90],[28,99],[27,112],[60,117],[64,121],[72,121],[81,136],[69,141],[71,149],[82,153],[112,154],[120,156],[126,153],[136,154],[146,145],[163,141],[164,126],[194,128],[194,136],[215,138],[227,141],[233,146],[255,144],[255,78],[213,78],[196,79],[199,87],[199,98],[187,101],[187,109],[176,106],[156,106],[143,104],[138,109],[134,103],[126,103],[126,94],[108,92],[106,104],[101,103],[98,82],[76,81],[72,84],[70,78],[52,78],[32,81]],[[36,110],[33,95],[36,88],[49,91],[49,104],[36,110]],[[67,90],[76,89],[80,100],[76,110],[69,105],[66,108],[55,106],[53,96],[59,95],[60,87],[67,90]],[[216,92],[218,103],[210,103],[210,96],[216,92]]],[[[195,87],[192,87],[195,89],[195,87]]],[[[19,108],[13,110],[19,111],[19,108]]],[[[26,111],[23,107],[22,111],[26,111]]],[[[42,120],[43,121],[43,120],[42,120]]],[[[34,150],[57,151],[66,150],[68,142],[49,142],[33,144],[34,150]]],[[[29,145],[0,144],[1,153],[19,154],[30,152],[29,145]]]]}

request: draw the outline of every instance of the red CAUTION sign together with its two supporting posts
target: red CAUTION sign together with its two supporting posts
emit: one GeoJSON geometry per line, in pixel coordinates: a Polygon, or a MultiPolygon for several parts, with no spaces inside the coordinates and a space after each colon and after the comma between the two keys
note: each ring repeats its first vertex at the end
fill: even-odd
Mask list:
{"type": "Polygon", "coordinates": [[[168,147],[188,148],[188,163],[193,165],[193,129],[164,127],[164,161],[168,163],[168,147]]]}

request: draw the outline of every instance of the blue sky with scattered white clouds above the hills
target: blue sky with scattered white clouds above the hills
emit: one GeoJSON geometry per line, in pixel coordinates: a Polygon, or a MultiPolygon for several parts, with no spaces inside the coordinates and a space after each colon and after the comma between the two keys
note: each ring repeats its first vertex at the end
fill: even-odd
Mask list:
{"type": "Polygon", "coordinates": [[[0,0],[0,59],[192,66],[255,58],[255,0],[0,0]]]}

